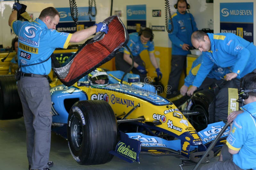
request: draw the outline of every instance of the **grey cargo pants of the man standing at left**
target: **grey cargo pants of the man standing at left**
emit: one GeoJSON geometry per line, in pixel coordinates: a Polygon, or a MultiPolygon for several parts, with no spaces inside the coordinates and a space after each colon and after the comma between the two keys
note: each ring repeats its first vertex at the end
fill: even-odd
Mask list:
{"type": "Polygon", "coordinates": [[[18,92],[27,131],[27,157],[31,169],[48,167],[51,147],[51,95],[45,77],[22,77],[18,92]]]}

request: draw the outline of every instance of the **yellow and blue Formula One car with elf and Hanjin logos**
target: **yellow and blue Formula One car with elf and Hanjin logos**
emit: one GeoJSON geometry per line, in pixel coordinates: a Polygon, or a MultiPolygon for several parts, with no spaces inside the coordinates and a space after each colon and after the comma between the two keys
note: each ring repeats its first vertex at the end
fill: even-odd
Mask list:
{"type": "MultiPolygon", "coordinates": [[[[136,82],[136,74],[126,74],[120,83],[123,72],[107,73],[109,85],[105,87],[91,86],[86,76],[70,87],[51,83],[52,131],[68,139],[78,164],[104,164],[113,155],[139,162],[140,153],[173,155],[195,164],[225,125],[217,122],[197,131],[193,124],[200,124],[202,119],[196,119],[200,111],[182,112],[157,95],[153,85],[136,82]]],[[[14,76],[1,76],[0,85],[0,119],[19,118],[14,76]]],[[[205,161],[220,151],[228,132],[205,161]]]]}

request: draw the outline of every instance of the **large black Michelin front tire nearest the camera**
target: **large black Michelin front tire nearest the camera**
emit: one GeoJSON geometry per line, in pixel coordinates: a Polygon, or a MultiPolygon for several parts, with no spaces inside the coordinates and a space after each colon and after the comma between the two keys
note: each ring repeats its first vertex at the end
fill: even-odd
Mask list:
{"type": "Polygon", "coordinates": [[[117,124],[110,105],[103,100],[76,102],[68,115],[68,146],[80,165],[109,162],[117,144],[117,124]]]}

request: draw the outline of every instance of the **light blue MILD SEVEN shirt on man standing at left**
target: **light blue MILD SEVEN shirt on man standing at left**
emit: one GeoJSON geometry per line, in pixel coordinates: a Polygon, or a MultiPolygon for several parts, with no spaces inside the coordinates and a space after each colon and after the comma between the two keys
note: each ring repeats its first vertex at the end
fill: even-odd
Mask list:
{"type": "MultiPolygon", "coordinates": [[[[18,64],[26,66],[46,60],[55,48],[67,48],[72,34],[48,29],[42,20],[34,22],[16,20],[12,30],[18,36],[18,64]]],[[[41,64],[21,67],[23,73],[49,74],[52,68],[51,58],[41,64]]]]}

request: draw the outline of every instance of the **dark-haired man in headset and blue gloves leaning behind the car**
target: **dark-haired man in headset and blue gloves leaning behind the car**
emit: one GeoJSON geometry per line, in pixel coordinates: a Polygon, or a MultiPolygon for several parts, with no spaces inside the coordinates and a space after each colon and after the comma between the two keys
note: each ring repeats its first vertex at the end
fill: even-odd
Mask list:
{"type": "MultiPolygon", "coordinates": [[[[129,34],[130,38],[127,46],[130,48],[134,60],[134,66],[132,68],[132,73],[140,75],[140,81],[146,82],[147,71],[145,69],[145,63],[140,58],[140,53],[143,50],[148,50],[149,58],[152,65],[156,68],[156,74],[159,79],[162,78],[162,73],[158,67],[155,58],[155,47],[154,47],[154,34],[150,28],[145,28],[144,30],[138,32],[133,32],[129,34]]],[[[126,71],[132,65],[132,58],[130,57],[130,52],[126,47],[119,50],[116,55],[116,70],[126,71]]]]}

